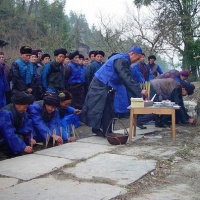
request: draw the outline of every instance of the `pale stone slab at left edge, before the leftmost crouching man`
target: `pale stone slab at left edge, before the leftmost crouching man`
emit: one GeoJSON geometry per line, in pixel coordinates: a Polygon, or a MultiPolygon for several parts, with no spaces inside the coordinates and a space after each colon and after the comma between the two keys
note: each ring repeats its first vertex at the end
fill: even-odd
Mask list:
{"type": "Polygon", "coordinates": [[[71,160],[64,158],[30,154],[0,161],[0,174],[30,180],[70,163],[71,160]]]}

